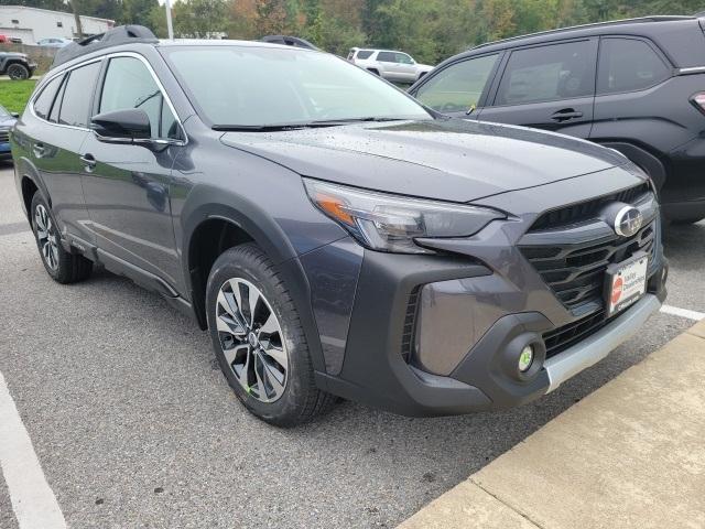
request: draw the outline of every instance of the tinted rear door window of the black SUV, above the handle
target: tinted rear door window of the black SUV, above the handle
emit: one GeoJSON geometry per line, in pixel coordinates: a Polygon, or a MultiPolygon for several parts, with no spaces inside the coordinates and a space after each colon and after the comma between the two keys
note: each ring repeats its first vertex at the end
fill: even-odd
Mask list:
{"type": "Polygon", "coordinates": [[[593,95],[593,43],[567,42],[512,52],[495,105],[522,105],[593,95]]]}

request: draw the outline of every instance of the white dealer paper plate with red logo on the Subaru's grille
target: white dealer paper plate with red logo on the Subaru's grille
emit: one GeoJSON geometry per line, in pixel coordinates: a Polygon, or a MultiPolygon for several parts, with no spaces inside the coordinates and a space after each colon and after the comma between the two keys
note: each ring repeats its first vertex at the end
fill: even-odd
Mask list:
{"type": "Polygon", "coordinates": [[[649,256],[643,251],[607,268],[607,317],[633,305],[647,292],[648,268],[649,256]]]}

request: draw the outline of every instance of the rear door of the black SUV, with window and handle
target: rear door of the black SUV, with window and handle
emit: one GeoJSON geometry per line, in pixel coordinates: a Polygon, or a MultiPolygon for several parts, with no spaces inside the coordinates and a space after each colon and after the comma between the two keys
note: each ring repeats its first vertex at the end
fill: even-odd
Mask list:
{"type": "Polygon", "coordinates": [[[512,50],[479,119],[588,138],[597,46],[583,39],[512,50]]]}

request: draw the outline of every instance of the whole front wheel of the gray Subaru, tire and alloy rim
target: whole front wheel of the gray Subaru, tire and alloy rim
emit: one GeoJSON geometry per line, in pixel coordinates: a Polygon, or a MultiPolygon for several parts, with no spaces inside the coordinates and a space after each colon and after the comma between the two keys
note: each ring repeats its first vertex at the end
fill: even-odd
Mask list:
{"type": "Polygon", "coordinates": [[[335,397],[315,385],[296,307],[262,250],[253,244],[226,250],[213,264],[206,290],[216,358],[252,414],[278,427],[295,427],[335,403],[335,397]]]}

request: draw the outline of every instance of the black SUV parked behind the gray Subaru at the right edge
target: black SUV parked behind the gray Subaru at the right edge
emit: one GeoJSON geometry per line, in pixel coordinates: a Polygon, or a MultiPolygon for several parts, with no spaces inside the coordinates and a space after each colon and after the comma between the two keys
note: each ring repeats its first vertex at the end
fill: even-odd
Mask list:
{"type": "Polygon", "coordinates": [[[549,31],[448,58],[410,88],[466,119],[589,139],[657,185],[664,215],[705,218],[705,19],[652,17],[549,31]]]}

